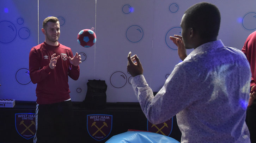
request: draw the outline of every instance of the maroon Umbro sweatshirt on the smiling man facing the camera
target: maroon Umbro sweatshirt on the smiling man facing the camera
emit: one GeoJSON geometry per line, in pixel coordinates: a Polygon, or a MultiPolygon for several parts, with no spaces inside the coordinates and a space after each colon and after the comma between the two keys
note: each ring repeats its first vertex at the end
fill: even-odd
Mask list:
{"type": "Polygon", "coordinates": [[[73,57],[71,48],[61,45],[51,46],[43,42],[33,47],[29,53],[29,73],[32,83],[36,84],[36,102],[51,104],[70,98],[68,76],[78,80],[79,66],[69,63],[68,57],[73,57]],[[60,55],[56,67],[50,69],[51,55],[60,55]]]}

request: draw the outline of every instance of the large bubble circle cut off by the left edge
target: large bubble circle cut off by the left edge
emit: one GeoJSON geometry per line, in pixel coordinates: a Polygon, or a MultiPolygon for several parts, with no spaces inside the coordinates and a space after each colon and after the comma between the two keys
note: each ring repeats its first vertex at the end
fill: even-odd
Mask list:
{"type": "Polygon", "coordinates": [[[17,29],[10,21],[0,21],[0,42],[11,43],[17,36],[17,29]]]}

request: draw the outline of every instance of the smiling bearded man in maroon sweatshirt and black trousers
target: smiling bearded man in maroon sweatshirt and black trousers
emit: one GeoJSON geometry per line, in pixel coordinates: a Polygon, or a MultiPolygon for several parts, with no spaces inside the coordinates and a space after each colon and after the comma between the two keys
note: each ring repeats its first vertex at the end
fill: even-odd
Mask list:
{"type": "Polygon", "coordinates": [[[61,45],[60,22],[56,17],[44,19],[45,41],[29,53],[31,81],[36,84],[36,134],[34,143],[71,143],[73,108],[68,76],[78,80],[81,56],[73,56],[61,45]]]}

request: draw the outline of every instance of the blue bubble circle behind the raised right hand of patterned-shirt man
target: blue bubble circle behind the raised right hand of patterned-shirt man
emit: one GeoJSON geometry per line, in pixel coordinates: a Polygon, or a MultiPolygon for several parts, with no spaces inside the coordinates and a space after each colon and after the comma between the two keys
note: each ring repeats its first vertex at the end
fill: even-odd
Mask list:
{"type": "Polygon", "coordinates": [[[165,43],[166,45],[173,49],[173,50],[177,50],[177,46],[172,42],[172,40],[170,40],[170,36],[173,35],[181,35],[181,27],[173,27],[171,28],[165,35],[165,43]]]}

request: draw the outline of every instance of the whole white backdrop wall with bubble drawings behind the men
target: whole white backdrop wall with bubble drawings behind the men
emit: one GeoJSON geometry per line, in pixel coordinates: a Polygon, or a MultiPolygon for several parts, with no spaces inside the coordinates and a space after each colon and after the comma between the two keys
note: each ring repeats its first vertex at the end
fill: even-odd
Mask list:
{"type": "MultiPolygon", "coordinates": [[[[218,39],[225,46],[242,49],[256,29],[256,1],[206,1],[221,13],[218,39]]],[[[71,47],[74,54],[80,53],[83,60],[78,81],[69,78],[72,101],[83,101],[87,81],[100,79],[108,85],[107,102],[138,102],[126,69],[128,52],[139,56],[148,84],[158,91],[181,62],[169,36],[181,34],[182,15],[197,2],[200,0],[39,0],[37,9],[34,0],[1,0],[0,98],[36,100],[36,84],[30,82],[27,70],[29,52],[44,41],[44,18],[56,16],[61,25],[60,43],[71,47]],[[97,42],[84,48],[78,44],[77,34],[91,27],[96,28],[97,42]]]]}

